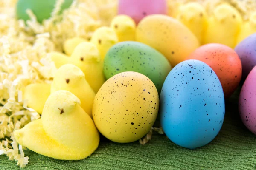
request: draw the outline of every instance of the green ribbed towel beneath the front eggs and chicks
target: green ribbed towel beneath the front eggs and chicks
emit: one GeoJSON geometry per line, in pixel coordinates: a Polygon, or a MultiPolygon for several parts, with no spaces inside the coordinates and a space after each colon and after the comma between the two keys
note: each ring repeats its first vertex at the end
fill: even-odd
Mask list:
{"type": "MultiPolygon", "coordinates": [[[[26,170],[256,170],[256,136],[241,123],[238,94],[226,102],[224,124],[218,136],[204,147],[189,150],[165,135],[153,134],[149,143],[119,144],[102,138],[87,159],[61,161],[26,150],[26,170]]],[[[0,170],[20,169],[0,156],[0,170]]]]}

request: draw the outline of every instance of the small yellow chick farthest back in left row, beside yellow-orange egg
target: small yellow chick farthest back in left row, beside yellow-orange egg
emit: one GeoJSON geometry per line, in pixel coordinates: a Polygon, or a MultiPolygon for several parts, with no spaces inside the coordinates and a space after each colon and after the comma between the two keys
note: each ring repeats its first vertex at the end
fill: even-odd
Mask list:
{"type": "Polygon", "coordinates": [[[136,23],[128,15],[117,15],[110,26],[116,32],[119,42],[135,40],[136,23]]]}

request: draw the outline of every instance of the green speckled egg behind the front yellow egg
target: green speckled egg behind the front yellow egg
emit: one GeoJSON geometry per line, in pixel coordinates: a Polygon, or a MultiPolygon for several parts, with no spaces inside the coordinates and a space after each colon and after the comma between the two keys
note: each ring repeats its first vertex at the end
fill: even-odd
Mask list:
{"type": "Polygon", "coordinates": [[[134,41],[113,45],[104,59],[106,79],[121,72],[135,71],[151,79],[159,94],[171,69],[170,63],[160,52],[134,41]]]}

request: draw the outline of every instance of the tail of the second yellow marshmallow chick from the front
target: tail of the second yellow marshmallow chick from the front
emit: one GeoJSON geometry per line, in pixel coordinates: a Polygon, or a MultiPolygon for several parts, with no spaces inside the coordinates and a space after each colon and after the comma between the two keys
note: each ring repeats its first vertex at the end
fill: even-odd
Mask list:
{"type": "Polygon", "coordinates": [[[38,113],[43,112],[44,104],[51,93],[51,85],[35,83],[27,85],[23,90],[23,99],[28,100],[28,107],[38,113]]]}

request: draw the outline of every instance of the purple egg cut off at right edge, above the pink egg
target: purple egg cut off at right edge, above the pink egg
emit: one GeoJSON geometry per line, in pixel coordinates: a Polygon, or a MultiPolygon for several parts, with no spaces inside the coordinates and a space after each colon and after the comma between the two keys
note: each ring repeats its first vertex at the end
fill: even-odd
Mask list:
{"type": "Polygon", "coordinates": [[[235,51],[241,59],[243,67],[242,78],[245,79],[256,65],[256,33],[241,41],[236,46],[235,51]]]}

